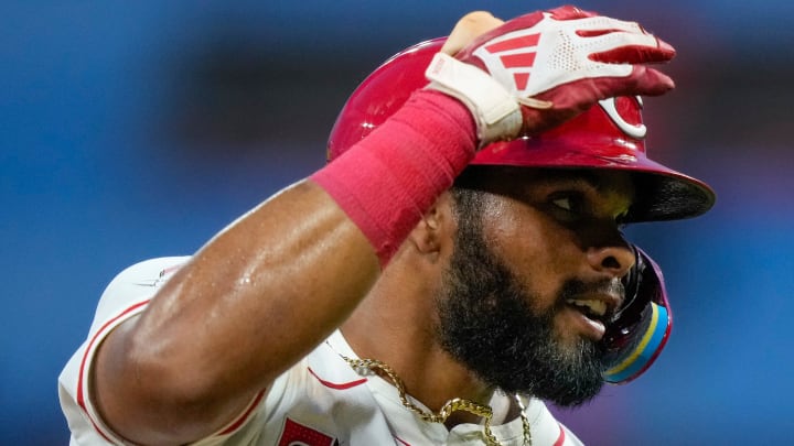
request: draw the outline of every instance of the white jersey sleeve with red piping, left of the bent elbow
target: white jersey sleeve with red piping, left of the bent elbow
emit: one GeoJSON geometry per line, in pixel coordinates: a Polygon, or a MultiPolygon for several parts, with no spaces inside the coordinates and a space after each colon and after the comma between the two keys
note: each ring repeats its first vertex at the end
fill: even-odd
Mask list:
{"type": "Polygon", "coordinates": [[[92,403],[88,377],[94,355],[107,335],[142,312],[159,287],[189,259],[168,257],[137,263],[119,273],[103,293],[87,338],[58,377],[58,398],[72,431],[71,445],[122,443],[105,426],[92,403]]]}

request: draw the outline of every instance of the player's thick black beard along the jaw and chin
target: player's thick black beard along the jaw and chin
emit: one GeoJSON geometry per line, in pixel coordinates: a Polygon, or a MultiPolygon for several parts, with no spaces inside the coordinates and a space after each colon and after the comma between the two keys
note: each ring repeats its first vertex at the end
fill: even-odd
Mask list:
{"type": "Polygon", "coordinates": [[[603,351],[583,338],[564,346],[554,334],[554,316],[566,296],[586,285],[566,282],[557,305],[538,314],[532,308],[538,298],[487,248],[480,229],[465,226],[461,221],[443,295],[437,298],[442,347],[504,392],[560,406],[591,400],[603,387],[603,351]]]}

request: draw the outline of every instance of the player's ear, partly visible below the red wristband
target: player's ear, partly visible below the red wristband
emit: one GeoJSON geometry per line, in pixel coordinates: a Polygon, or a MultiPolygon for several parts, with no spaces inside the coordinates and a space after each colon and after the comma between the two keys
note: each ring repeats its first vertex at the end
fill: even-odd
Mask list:
{"type": "Polygon", "coordinates": [[[449,192],[441,194],[408,235],[408,240],[419,253],[437,257],[454,228],[452,203],[449,192]]]}

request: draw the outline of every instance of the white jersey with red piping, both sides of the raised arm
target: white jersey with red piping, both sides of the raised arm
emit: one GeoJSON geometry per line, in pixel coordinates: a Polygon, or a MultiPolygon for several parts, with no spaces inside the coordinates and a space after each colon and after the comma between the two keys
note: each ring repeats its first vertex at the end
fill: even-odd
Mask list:
{"type": "MultiPolygon", "coordinates": [[[[101,422],[92,404],[87,377],[97,346],[114,327],[139,314],[158,287],[189,258],[160,258],[132,265],[116,276],[97,307],[88,338],[58,378],[61,405],[72,431],[72,446],[122,444],[101,422]]],[[[361,376],[340,356],[356,358],[341,333],[334,333],[229,423],[203,440],[215,445],[483,445],[483,428],[460,424],[448,431],[406,409],[397,390],[375,374],[361,376]]],[[[418,401],[414,401],[422,406],[418,401]]],[[[508,404],[497,394],[494,412],[508,404]]],[[[581,445],[545,404],[525,400],[534,445],[581,445]]],[[[498,416],[498,415],[497,415],[498,416]]],[[[516,417],[492,431],[503,445],[521,445],[523,424],[516,417]]]]}

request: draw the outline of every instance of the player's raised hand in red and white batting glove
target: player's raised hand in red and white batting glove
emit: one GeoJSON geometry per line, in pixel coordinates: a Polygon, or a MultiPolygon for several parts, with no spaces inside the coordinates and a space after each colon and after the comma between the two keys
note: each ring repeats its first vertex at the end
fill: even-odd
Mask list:
{"type": "MultiPolygon", "coordinates": [[[[491,129],[482,130],[490,126],[489,119],[494,122],[497,119],[479,119],[476,115],[483,109],[493,109],[494,104],[478,105],[478,108],[466,99],[473,97],[476,105],[480,97],[494,96],[492,85],[483,87],[487,94],[472,91],[482,83],[438,88],[459,98],[465,97],[461,100],[475,115],[485,142],[543,132],[601,99],[656,96],[674,87],[669,77],[645,64],[667,62],[675,55],[675,50],[637,23],[575,7],[533,12],[504,23],[493,17],[489,19],[489,15],[474,13],[461,19],[443,51],[448,54],[457,52],[458,61],[487,73],[518,101],[519,128],[515,123],[501,124],[495,130],[501,132],[500,135],[494,135],[495,131],[491,129]],[[452,91],[455,89],[460,91],[452,91]]],[[[431,74],[428,77],[436,80],[431,74]]],[[[440,84],[444,84],[444,79],[440,84]]]]}

